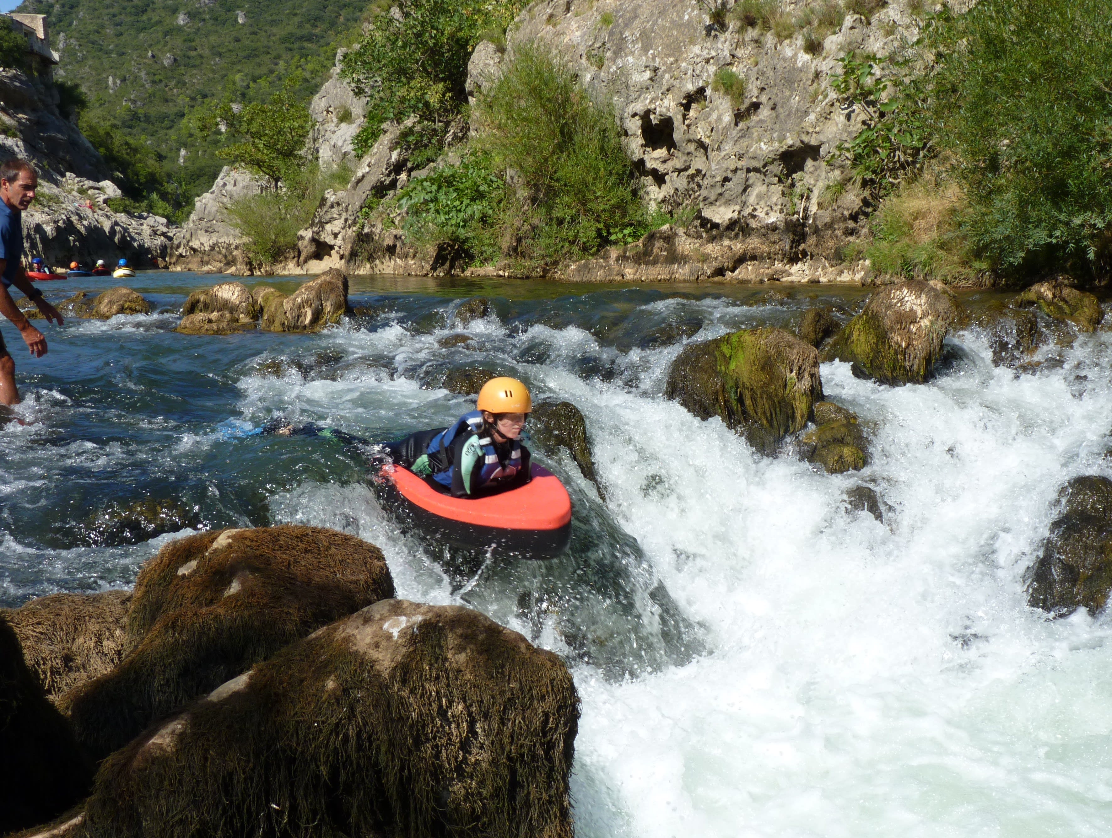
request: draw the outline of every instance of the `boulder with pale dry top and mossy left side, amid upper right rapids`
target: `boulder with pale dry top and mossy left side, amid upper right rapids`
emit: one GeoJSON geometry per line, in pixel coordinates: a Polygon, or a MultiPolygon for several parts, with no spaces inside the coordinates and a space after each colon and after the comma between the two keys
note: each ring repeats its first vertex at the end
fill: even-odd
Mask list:
{"type": "Polygon", "coordinates": [[[824,357],[850,361],[855,375],[881,383],[923,383],[932,377],[942,341],[961,313],[950,295],[929,282],[886,286],[868,298],[824,357]]]}

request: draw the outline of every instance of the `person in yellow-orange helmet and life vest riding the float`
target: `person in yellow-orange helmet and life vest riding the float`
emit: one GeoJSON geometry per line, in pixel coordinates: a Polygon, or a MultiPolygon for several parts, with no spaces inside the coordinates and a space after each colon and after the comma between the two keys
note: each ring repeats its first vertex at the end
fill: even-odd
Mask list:
{"type": "Polygon", "coordinates": [[[520,442],[533,398],[520,381],[493,378],[477,410],[449,428],[418,431],[384,448],[399,466],[457,498],[475,498],[529,481],[529,449],[520,442]]]}

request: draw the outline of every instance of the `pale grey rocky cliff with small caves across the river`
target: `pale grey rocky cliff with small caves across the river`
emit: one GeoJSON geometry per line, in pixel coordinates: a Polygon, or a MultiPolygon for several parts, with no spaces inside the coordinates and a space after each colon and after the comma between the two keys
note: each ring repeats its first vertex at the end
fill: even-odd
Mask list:
{"type": "MultiPolygon", "coordinates": [[[[783,12],[802,12],[804,0],[785,0],[783,12]]],[[[496,80],[515,50],[538,43],[579,77],[596,100],[613,107],[624,144],[656,207],[691,218],[625,248],[564,266],[576,281],[861,281],[862,265],[845,263],[845,246],[863,232],[864,197],[851,183],[843,143],[863,126],[831,86],[840,59],[856,51],[884,56],[920,34],[910,0],[894,0],[866,20],[846,13],[821,44],[745,27],[711,26],[696,0],[547,0],[529,6],[507,34],[505,50],[489,41],[471,56],[471,101],[496,80]],[[733,72],[744,94],[715,83],[733,72]]],[[[783,33],[782,33],[783,34],[783,33]]],[[[371,197],[389,197],[411,177],[398,127],[387,127],[370,152],[356,160],[351,140],[365,103],[337,69],[312,100],[310,142],[322,167],[356,164],[346,190],[326,194],[298,237],[295,261],[275,270],[319,272],[450,273],[463,266],[449,249],[418,250],[397,229],[367,223],[359,210],[371,197]]],[[[461,138],[460,138],[461,139],[461,138]]],[[[444,159],[451,159],[449,150],[444,159]]],[[[221,176],[221,180],[226,176],[221,176]]],[[[217,182],[198,200],[198,212],[179,233],[171,265],[242,268],[229,239],[206,225],[210,206],[225,200],[217,182]],[[202,206],[203,203],[203,206],[202,206]],[[203,261],[203,260],[201,260],[203,261]]],[[[502,269],[473,273],[504,276],[502,269]]]]}

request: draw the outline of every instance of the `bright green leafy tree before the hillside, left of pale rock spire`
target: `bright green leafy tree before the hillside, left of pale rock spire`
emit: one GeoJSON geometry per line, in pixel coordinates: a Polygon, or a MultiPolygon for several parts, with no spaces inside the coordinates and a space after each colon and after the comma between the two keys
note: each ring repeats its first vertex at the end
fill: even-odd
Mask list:
{"type": "Polygon", "coordinates": [[[218,108],[216,119],[235,139],[219,156],[262,174],[275,187],[302,168],[312,118],[297,96],[299,82],[297,76],[288,77],[267,102],[239,108],[226,102],[218,108]]]}

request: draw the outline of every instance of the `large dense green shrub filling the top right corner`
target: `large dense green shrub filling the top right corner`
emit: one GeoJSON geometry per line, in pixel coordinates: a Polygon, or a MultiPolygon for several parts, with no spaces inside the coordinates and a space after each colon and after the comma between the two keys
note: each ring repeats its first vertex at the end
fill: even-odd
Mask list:
{"type": "Polygon", "coordinates": [[[1112,29],[1106,0],[982,0],[935,80],[974,248],[1004,272],[1112,269],[1112,29]]]}

